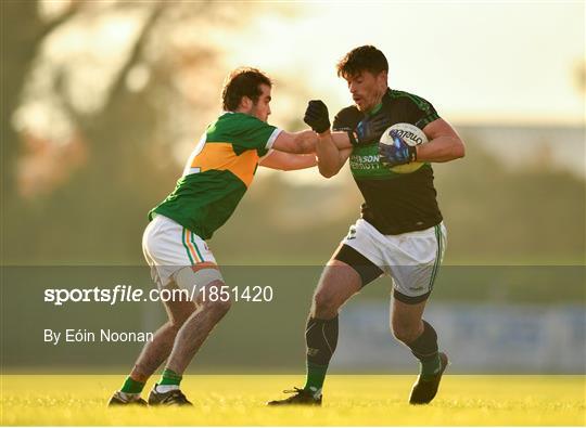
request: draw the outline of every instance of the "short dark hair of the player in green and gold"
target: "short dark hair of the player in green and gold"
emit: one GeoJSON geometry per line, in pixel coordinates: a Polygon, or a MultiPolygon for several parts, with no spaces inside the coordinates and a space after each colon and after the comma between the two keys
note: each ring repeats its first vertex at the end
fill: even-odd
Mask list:
{"type": "Polygon", "coordinates": [[[263,72],[251,67],[234,69],[224,81],[221,90],[224,109],[226,112],[235,111],[242,96],[250,98],[256,104],[262,93],[260,85],[272,86],[270,79],[263,72]]]}

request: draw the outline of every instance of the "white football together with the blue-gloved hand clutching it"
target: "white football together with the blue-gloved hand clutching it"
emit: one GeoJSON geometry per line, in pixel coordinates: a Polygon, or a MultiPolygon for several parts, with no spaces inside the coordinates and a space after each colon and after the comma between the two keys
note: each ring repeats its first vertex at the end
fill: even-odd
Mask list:
{"type": "Polygon", "coordinates": [[[421,129],[411,124],[395,124],[379,142],[379,161],[393,172],[417,171],[423,163],[417,161],[417,146],[428,142],[421,129]]]}

